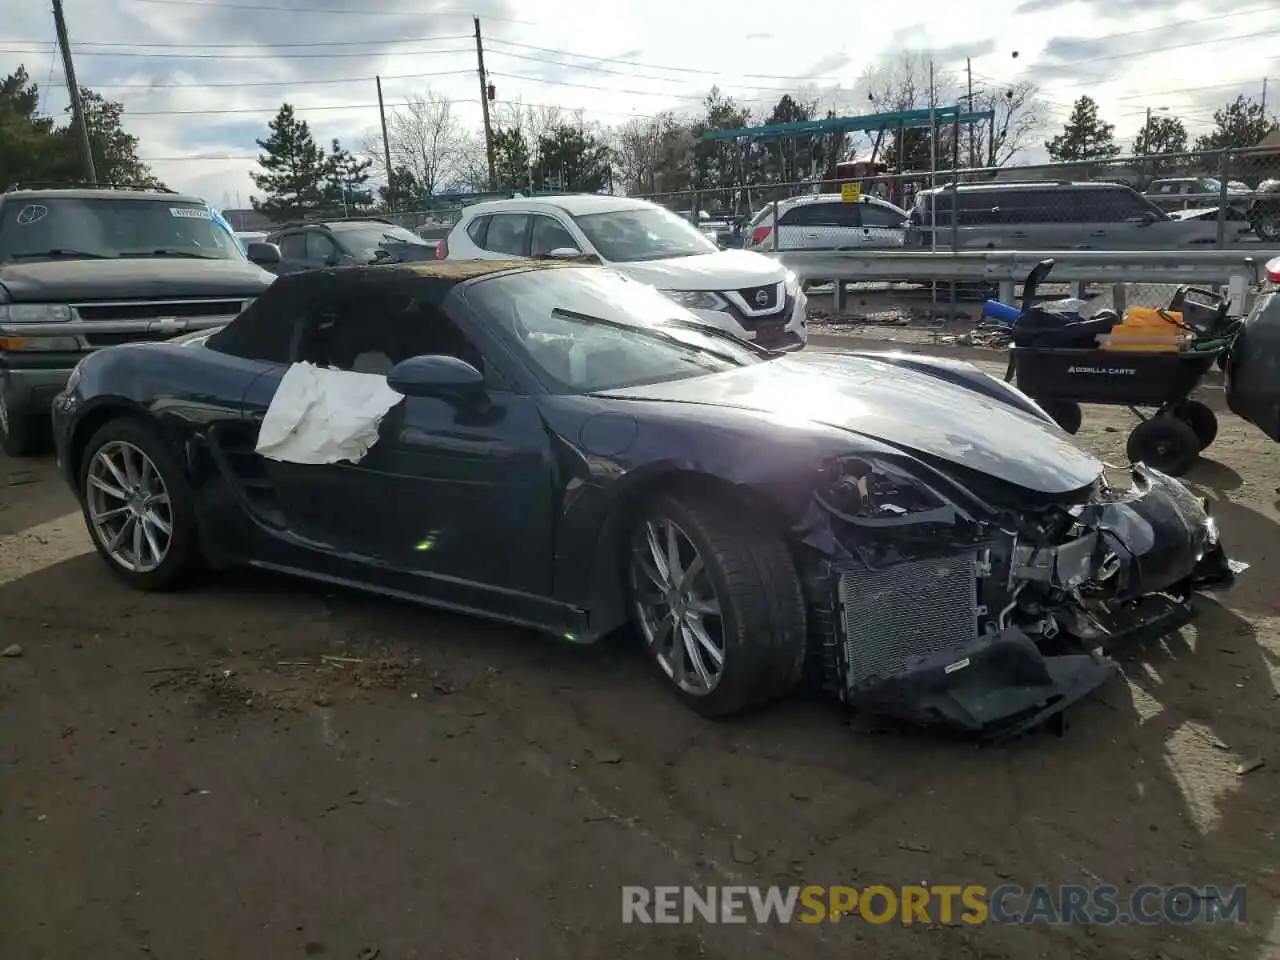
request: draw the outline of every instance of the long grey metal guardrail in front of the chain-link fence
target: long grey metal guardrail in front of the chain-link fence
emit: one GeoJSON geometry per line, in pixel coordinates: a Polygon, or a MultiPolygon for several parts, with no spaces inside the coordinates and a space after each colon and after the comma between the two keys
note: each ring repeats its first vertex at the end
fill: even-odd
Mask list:
{"type": "Polygon", "coordinates": [[[1225,287],[1233,312],[1244,307],[1251,287],[1280,250],[980,250],[858,251],[780,250],[768,252],[801,280],[835,283],[836,310],[845,283],[916,282],[996,283],[1000,300],[1014,302],[1015,288],[1042,260],[1053,260],[1051,283],[1169,283],[1225,287]]]}

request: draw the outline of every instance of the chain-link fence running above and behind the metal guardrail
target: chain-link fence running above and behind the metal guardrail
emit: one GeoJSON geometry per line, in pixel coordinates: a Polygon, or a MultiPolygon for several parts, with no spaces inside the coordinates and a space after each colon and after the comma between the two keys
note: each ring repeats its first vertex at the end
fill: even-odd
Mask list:
{"type": "Polygon", "coordinates": [[[721,246],[1190,250],[1280,243],[1280,150],[895,173],[652,195],[721,246]]]}

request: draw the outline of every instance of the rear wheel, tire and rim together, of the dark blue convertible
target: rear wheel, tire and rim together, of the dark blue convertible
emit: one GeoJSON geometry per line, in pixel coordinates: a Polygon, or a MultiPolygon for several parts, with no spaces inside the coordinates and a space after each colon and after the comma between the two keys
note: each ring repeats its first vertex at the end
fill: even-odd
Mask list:
{"type": "Polygon", "coordinates": [[[165,590],[198,556],[191,493],[164,442],[114,420],[88,443],[79,476],[84,524],[97,552],[133,586],[165,590]]]}

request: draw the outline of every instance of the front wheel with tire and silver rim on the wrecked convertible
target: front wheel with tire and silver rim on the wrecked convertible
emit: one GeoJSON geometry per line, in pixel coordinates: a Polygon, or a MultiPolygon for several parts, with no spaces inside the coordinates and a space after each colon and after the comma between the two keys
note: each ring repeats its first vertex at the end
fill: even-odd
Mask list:
{"type": "Polygon", "coordinates": [[[799,682],[804,598],[777,534],[705,498],[667,497],[636,524],[628,567],[649,655],[686,705],[722,717],[799,682]]]}

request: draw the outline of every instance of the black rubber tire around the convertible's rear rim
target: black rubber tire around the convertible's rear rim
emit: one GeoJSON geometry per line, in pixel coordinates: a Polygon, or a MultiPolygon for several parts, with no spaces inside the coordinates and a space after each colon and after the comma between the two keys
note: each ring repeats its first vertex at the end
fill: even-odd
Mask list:
{"type": "Polygon", "coordinates": [[[200,534],[196,524],[196,504],[187,483],[187,476],[182,470],[177,457],[170,452],[164,438],[143,421],[124,416],[111,420],[99,428],[81,457],[79,471],[76,477],[76,492],[81,502],[81,512],[84,516],[84,526],[88,530],[90,540],[111,572],[120,577],[129,586],[138,590],[172,590],[187,580],[201,564],[200,534]],[[155,466],[156,472],[164,483],[169,494],[170,506],[170,540],[169,549],[161,563],[152,571],[138,572],[123,567],[110,553],[108,544],[102,543],[90,515],[87,495],[90,467],[93,457],[109,443],[123,442],[133,445],[146,454],[155,466]]]}

